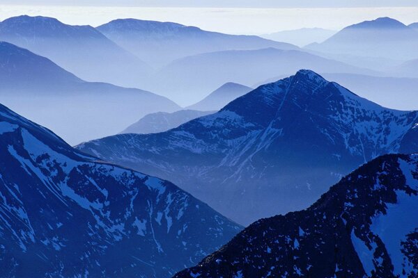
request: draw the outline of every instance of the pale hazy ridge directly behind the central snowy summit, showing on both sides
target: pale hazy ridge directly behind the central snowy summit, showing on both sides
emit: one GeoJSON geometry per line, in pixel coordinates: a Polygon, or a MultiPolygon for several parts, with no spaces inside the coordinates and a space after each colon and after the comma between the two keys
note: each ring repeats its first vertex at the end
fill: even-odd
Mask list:
{"type": "MultiPolygon", "coordinates": [[[[364,74],[327,74],[327,79],[350,88],[360,97],[369,99],[381,106],[399,110],[418,110],[417,88],[418,79],[403,77],[382,77],[364,74]]],[[[271,83],[288,76],[277,76],[254,85],[271,83]]]]}

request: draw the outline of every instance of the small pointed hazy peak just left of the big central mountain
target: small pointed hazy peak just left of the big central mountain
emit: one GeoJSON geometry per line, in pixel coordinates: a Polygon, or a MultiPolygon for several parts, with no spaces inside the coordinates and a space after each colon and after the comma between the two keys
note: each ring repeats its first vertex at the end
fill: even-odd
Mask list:
{"type": "Polygon", "coordinates": [[[222,107],[226,106],[226,104],[229,104],[229,102],[247,94],[247,92],[251,90],[254,89],[245,85],[233,82],[225,83],[201,101],[191,106],[187,106],[187,108],[199,111],[218,111],[222,107]]]}

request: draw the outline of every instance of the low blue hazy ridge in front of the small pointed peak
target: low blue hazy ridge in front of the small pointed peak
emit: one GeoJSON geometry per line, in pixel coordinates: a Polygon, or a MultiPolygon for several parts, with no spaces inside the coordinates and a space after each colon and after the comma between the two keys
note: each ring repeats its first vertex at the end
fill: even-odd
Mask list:
{"type": "Polygon", "coordinates": [[[215,113],[215,111],[180,110],[173,113],[157,112],[146,115],[138,122],[131,124],[121,133],[158,133],[173,129],[180,124],[215,113]]]}

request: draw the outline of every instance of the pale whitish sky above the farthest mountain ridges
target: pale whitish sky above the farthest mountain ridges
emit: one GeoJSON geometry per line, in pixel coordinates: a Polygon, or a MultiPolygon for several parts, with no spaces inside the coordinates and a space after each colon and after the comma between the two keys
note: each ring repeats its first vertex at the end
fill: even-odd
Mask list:
{"type": "Polygon", "coordinates": [[[264,34],[297,28],[339,30],[377,17],[418,22],[417,0],[1,0],[0,20],[16,15],[56,17],[98,26],[116,18],[178,22],[209,31],[264,34]]]}

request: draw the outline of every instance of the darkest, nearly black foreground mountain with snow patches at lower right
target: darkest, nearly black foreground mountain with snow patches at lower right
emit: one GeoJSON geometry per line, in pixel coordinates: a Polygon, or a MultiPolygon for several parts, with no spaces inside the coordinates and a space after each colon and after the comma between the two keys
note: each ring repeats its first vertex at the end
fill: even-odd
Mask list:
{"type": "Polygon", "coordinates": [[[376,158],[174,277],[417,277],[417,166],[417,155],[376,158]]]}

